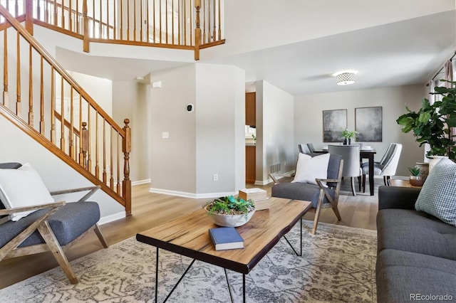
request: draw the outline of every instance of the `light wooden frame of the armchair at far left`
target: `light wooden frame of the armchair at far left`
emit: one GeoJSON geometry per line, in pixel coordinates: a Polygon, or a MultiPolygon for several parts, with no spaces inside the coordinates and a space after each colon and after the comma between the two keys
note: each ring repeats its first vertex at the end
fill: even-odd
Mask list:
{"type": "MultiPolygon", "coordinates": [[[[86,201],[90,196],[93,195],[93,193],[95,193],[95,191],[98,191],[99,188],[100,186],[89,186],[83,188],[73,188],[64,191],[53,191],[51,192],[51,196],[57,196],[65,193],[88,191],[88,193],[86,193],[85,196],[83,196],[77,201],[81,202],[86,201]]],[[[9,241],[9,243],[6,243],[4,247],[0,248],[0,261],[8,259],[10,257],[20,257],[23,255],[33,255],[39,252],[51,251],[53,256],[56,258],[58,265],[62,267],[63,272],[65,272],[66,276],[68,277],[68,280],[70,280],[72,284],[78,283],[78,278],[76,277],[73,268],[70,265],[70,262],[68,262],[64,250],[66,250],[71,245],[76,243],[79,239],[83,238],[83,236],[86,235],[86,233],[88,233],[88,230],[82,235],[80,235],[78,238],[73,240],[71,243],[68,243],[65,246],[61,246],[58,243],[56,235],[54,235],[51,226],[48,223],[48,218],[52,216],[54,213],[56,213],[58,209],[65,206],[65,204],[65,201],[59,201],[55,203],[43,204],[41,206],[25,206],[19,208],[1,209],[0,216],[10,215],[11,213],[18,213],[21,211],[37,211],[39,209],[49,208],[49,210],[46,211],[46,213],[44,213],[43,216],[41,216],[41,218],[39,218],[31,225],[29,225],[28,228],[19,233],[19,235],[16,235],[16,237],[9,241]],[[18,246],[21,245],[21,243],[23,243],[24,240],[26,240],[28,236],[31,235],[35,230],[38,230],[46,244],[31,245],[26,246],[24,248],[18,248],[18,246]]],[[[89,228],[89,230],[90,229],[91,228],[89,228]]],[[[95,234],[97,235],[103,247],[108,248],[108,243],[103,237],[103,234],[101,233],[100,227],[97,223],[93,225],[93,230],[95,231],[95,234]]]]}

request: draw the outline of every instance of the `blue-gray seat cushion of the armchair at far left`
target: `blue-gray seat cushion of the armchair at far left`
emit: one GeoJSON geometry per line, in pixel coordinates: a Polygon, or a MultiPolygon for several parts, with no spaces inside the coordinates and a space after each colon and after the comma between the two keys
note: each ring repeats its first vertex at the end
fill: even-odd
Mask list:
{"type": "MultiPolygon", "coordinates": [[[[0,248],[8,243],[11,239],[19,235],[22,230],[26,229],[35,220],[46,213],[45,209],[35,211],[19,221],[8,221],[0,225],[0,248]]],[[[100,220],[100,208],[98,203],[90,201],[81,201],[66,203],[49,219],[54,235],[60,245],[67,245],[78,236],[100,220]]],[[[36,230],[32,233],[19,247],[44,243],[43,238],[36,230]]]]}

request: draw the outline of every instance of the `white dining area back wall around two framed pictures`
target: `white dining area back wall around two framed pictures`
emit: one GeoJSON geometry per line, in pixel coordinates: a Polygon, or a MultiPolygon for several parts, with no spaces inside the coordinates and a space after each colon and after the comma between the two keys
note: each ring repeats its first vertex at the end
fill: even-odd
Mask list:
{"type": "Polygon", "coordinates": [[[383,142],[366,142],[366,145],[376,149],[375,161],[380,161],[388,144],[403,144],[396,174],[408,176],[408,167],[423,161],[423,147],[418,147],[413,134],[404,134],[395,120],[406,112],[405,106],[418,110],[425,93],[423,85],[409,85],[297,96],[294,105],[295,152],[297,154],[299,143],[312,142],[317,149],[328,145],[323,142],[323,110],[346,109],[348,129],[355,129],[356,107],[380,106],[383,110],[383,142]]]}

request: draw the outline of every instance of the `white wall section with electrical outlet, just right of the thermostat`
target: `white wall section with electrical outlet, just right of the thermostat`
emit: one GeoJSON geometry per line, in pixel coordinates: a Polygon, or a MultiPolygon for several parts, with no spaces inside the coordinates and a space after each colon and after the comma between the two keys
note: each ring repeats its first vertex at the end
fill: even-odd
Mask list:
{"type": "Polygon", "coordinates": [[[245,73],[233,66],[196,67],[197,193],[237,193],[245,188],[245,73]]]}

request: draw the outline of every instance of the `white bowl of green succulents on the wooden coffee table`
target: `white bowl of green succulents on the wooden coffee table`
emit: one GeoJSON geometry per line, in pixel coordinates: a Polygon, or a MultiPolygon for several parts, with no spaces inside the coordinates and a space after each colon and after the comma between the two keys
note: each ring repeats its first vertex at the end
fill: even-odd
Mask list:
{"type": "Polygon", "coordinates": [[[237,227],[249,222],[255,212],[255,203],[253,200],[224,196],[204,203],[202,208],[215,224],[237,227]]]}

